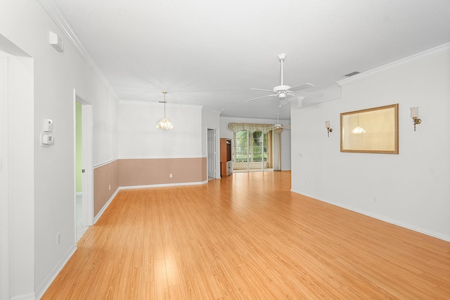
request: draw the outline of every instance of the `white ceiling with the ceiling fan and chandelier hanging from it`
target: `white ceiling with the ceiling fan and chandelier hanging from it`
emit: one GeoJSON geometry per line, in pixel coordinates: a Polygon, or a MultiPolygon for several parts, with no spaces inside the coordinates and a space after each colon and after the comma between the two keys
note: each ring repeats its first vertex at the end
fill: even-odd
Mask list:
{"type": "MultiPolygon", "coordinates": [[[[39,0],[120,100],[203,105],[227,117],[290,119],[250,88],[327,91],[450,41],[449,0],[39,0]],[[62,13],[61,13],[62,12],[62,13]]],[[[332,97],[325,92],[323,99],[332,97]]]]}

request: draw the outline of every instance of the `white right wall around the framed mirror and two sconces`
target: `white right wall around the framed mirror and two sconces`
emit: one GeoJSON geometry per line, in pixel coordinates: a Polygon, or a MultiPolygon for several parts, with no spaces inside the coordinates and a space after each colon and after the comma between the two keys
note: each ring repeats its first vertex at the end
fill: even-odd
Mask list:
{"type": "Polygon", "coordinates": [[[436,56],[422,53],[361,80],[352,77],[342,82],[340,100],[294,107],[292,190],[450,240],[449,49],[446,44],[431,51],[436,56]],[[341,112],[394,103],[399,155],[340,152],[341,112]],[[422,119],[416,132],[414,106],[422,119]],[[333,128],[330,138],[325,120],[333,128]]]}

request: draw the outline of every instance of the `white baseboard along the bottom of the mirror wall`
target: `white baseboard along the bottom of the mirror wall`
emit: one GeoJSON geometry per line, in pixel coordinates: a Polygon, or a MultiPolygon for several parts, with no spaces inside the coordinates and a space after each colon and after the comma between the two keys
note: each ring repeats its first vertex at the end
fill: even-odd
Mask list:
{"type": "Polygon", "coordinates": [[[387,223],[390,223],[390,224],[393,224],[393,225],[396,225],[396,226],[400,226],[400,227],[403,227],[403,228],[406,228],[406,229],[409,229],[409,230],[413,230],[413,231],[416,231],[418,233],[423,233],[424,235],[430,235],[431,237],[437,237],[439,240],[444,240],[446,242],[450,242],[450,236],[449,235],[443,235],[442,233],[436,233],[435,231],[428,230],[428,229],[425,229],[425,228],[421,228],[421,227],[418,227],[418,226],[414,226],[414,225],[411,225],[409,223],[404,223],[402,221],[398,221],[396,219],[388,218],[387,216],[382,216],[380,214],[373,214],[371,211],[365,211],[364,209],[358,209],[356,207],[345,205],[345,204],[342,204],[342,203],[339,203],[339,202],[334,202],[334,201],[330,201],[330,200],[326,200],[326,199],[321,199],[321,198],[316,197],[314,195],[308,195],[308,194],[305,194],[305,193],[300,193],[300,192],[297,192],[295,190],[290,190],[290,191],[293,192],[293,193],[297,193],[297,194],[300,194],[300,195],[304,195],[304,196],[313,198],[313,199],[321,201],[321,202],[326,202],[328,204],[332,204],[332,205],[334,205],[336,207],[342,207],[343,209],[348,209],[350,211],[354,211],[354,212],[357,212],[359,214],[364,214],[364,216],[370,216],[373,219],[378,219],[380,221],[385,221],[387,223]]]}

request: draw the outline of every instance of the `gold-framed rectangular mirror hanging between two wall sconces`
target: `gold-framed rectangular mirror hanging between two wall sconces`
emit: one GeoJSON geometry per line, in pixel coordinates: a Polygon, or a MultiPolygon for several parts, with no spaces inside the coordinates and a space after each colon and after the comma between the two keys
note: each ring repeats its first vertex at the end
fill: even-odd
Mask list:
{"type": "Polygon", "coordinates": [[[399,154],[399,105],[340,114],[340,151],[399,154]]]}

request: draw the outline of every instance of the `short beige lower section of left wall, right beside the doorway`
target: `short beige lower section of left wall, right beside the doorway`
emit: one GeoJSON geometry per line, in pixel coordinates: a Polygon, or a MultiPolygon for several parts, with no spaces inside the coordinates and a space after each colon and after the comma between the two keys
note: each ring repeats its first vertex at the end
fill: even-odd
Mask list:
{"type": "Polygon", "coordinates": [[[94,169],[94,216],[119,188],[119,161],[115,160],[94,169]]]}

